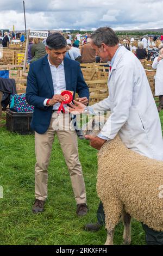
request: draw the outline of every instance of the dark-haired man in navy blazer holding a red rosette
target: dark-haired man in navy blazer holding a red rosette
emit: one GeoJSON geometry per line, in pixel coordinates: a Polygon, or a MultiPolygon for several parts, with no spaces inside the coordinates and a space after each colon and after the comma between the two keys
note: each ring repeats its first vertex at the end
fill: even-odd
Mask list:
{"type": "Polygon", "coordinates": [[[63,90],[78,93],[80,102],[87,105],[87,87],[78,62],[65,58],[66,39],[59,33],[47,38],[47,56],[30,64],[27,77],[26,99],[35,106],[31,127],[35,131],[35,203],[33,212],[42,212],[47,198],[48,163],[54,135],[57,134],[70,172],[77,215],[87,214],[86,192],[82,166],[78,157],[77,134],[72,129],[69,114],[57,114],[65,100],[63,90]]]}

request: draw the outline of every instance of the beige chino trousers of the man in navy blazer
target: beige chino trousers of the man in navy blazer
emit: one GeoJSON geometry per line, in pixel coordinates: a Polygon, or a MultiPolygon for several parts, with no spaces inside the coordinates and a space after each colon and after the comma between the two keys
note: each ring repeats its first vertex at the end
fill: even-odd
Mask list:
{"type": "Polygon", "coordinates": [[[77,134],[71,124],[69,114],[60,113],[58,116],[57,112],[53,113],[51,123],[45,133],[35,132],[35,198],[43,201],[47,198],[48,164],[55,134],[58,136],[70,173],[76,202],[77,204],[86,203],[82,166],[78,156],[77,134]]]}

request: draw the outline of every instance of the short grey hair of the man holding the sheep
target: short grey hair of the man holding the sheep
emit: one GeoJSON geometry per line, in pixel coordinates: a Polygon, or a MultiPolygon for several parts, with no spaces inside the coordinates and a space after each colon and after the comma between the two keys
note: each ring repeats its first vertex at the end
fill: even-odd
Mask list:
{"type": "Polygon", "coordinates": [[[98,28],[91,35],[91,39],[93,44],[98,48],[101,47],[102,43],[111,47],[117,45],[119,42],[118,36],[110,27],[98,28]]]}

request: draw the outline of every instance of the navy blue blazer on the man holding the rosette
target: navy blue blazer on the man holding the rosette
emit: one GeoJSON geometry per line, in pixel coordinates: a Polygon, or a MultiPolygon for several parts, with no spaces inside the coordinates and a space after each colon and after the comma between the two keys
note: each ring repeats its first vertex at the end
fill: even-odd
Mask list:
{"type": "MultiPolygon", "coordinates": [[[[79,94],[79,97],[89,99],[89,88],[84,81],[80,64],[75,60],[64,58],[66,90],[79,94]]],[[[45,99],[52,99],[54,95],[51,69],[47,55],[42,59],[30,64],[26,99],[30,105],[35,106],[31,128],[37,133],[43,134],[47,131],[52,117],[52,106],[45,107],[45,99]]]]}

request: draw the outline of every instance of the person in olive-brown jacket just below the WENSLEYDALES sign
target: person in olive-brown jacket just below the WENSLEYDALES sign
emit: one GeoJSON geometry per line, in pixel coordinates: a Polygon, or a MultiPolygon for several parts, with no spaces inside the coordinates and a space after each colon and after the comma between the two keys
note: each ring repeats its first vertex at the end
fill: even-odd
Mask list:
{"type": "Polygon", "coordinates": [[[34,38],[34,44],[31,48],[32,60],[30,62],[35,62],[38,59],[43,58],[46,55],[45,44],[41,42],[41,39],[34,38]]]}

